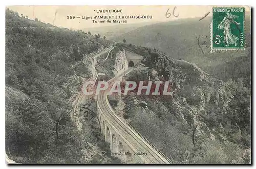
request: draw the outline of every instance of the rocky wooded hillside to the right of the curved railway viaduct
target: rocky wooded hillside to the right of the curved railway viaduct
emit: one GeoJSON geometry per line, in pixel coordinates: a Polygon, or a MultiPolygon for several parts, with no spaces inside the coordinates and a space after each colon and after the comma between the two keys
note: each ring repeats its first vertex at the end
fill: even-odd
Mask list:
{"type": "MultiPolygon", "coordinates": [[[[145,56],[125,81],[172,83],[171,96],[109,96],[136,130],[180,163],[250,163],[250,88],[242,78],[226,83],[195,63],[158,50],[119,44],[145,56]]],[[[248,75],[247,75],[248,76],[248,75]]]]}

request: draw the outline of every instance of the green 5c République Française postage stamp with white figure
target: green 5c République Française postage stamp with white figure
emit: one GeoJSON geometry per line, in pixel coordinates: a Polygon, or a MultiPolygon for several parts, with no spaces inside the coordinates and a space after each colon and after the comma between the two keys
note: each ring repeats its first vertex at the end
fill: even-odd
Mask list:
{"type": "Polygon", "coordinates": [[[245,9],[243,7],[212,8],[211,49],[245,49],[245,9]]]}

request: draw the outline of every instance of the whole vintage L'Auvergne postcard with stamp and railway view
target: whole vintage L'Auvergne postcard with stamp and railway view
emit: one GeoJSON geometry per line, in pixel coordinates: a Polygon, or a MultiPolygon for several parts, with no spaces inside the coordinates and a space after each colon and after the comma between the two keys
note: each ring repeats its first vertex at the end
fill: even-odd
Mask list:
{"type": "Polygon", "coordinates": [[[249,6],[7,6],[6,162],[251,164],[249,6]]]}

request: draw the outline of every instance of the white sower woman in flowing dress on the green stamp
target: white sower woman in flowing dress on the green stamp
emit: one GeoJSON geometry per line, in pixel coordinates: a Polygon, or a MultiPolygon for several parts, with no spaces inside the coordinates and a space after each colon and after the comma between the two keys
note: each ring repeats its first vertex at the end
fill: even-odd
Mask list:
{"type": "Polygon", "coordinates": [[[230,11],[227,11],[227,15],[223,18],[223,20],[221,21],[221,23],[218,25],[218,29],[223,29],[223,34],[224,34],[224,40],[223,43],[226,44],[225,46],[229,46],[230,44],[234,44],[234,46],[237,46],[237,41],[239,40],[238,37],[234,36],[231,33],[231,29],[230,29],[230,24],[234,23],[237,26],[240,25],[240,23],[234,21],[233,19],[238,18],[238,16],[233,15],[230,13],[230,11]]]}

